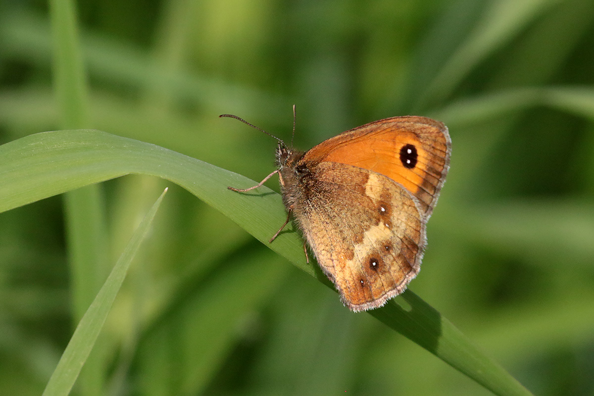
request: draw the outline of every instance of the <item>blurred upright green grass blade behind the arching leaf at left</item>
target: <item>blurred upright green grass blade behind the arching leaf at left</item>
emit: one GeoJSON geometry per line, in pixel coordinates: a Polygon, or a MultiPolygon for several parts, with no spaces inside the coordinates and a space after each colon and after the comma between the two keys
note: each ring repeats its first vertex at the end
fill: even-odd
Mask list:
{"type": "MultiPolygon", "coordinates": [[[[83,64],[75,2],[51,0],[52,78],[62,129],[89,125],[89,94],[83,64]]],[[[86,186],[64,195],[72,318],[74,327],[89,308],[109,273],[108,243],[103,190],[86,186]]],[[[102,344],[102,340],[99,341],[102,344]]],[[[78,384],[84,396],[103,394],[106,375],[105,348],[87,359],[78,384]]]]}

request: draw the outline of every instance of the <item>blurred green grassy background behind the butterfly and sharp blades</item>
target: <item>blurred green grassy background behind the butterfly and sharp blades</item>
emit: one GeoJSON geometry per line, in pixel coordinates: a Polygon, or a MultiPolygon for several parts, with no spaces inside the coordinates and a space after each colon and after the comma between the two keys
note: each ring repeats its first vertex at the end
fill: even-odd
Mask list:
{"type": "MultiPolygon", "coordinates": [[[[261,180],[276,142],[219,114],[289,141],[296,104],[302,149],[389,116],[445,122],[451,170],[410,289],[535,394],[594,395],[594,2],[77,7],[87,128],[261,180]]],[[[62,129],[48,12],[0,1],[0,143],[62,129]]],[[[73,394],[489,394],[156,178],[100,185],[91,298],[165,186],[73,394]]],[[[67,218],[63,197],[0,214],[2,395],[43,391],[86,309],[67,218]]]]}

